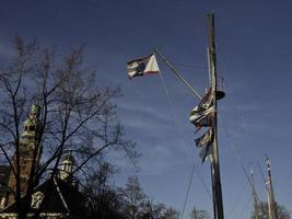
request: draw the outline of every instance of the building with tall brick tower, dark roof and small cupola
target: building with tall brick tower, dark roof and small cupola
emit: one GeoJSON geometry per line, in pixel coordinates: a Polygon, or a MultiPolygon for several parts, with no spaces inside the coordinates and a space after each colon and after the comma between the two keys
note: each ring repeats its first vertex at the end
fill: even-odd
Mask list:
{"type": "MultiPolygon", "coordinates": [[[[28,118],[23,123],[23,132],[19,143],[20,178],[22,200],[31,203],[28,218],[39,215],[39,218],[62,219],[84,218],[85,197],[79,192],[78,183],[73,180],[74,159],[71,153],[62,158],[61,168],[57,176],[40,183],[34,181],[33,194],[27,197],[30,176],[34,176],[39,169],[42,142],[39,141],[39,106],[33,105],[28,118]]],[[[16,154],[12,158],[15,166],[16,154]]],[[[11,166],[0,166],[0,219],[17,218],[17,208],[12,191],[16,189],[15,174],[11,166]]],[[[25,203],[25,201],[22,201],[25,203]]],[[[24,208],[24,206],[23,206],[24,208]]]]}

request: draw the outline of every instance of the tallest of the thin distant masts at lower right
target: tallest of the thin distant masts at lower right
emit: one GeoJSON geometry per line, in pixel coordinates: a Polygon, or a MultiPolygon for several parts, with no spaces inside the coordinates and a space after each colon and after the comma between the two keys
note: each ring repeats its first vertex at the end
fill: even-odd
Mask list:
{"type": "Polygon", "coordinates": [[[267,193],[268,193],[269,217],[271,219],[278,219],[278,209],[277,209],[277,203],[275,200],[272,178],[271,178],[271,162],[270,162],[270,159],[268,157],[266,159],[266,164],[267,164],[267,172],[268,172],[267,193]]]}

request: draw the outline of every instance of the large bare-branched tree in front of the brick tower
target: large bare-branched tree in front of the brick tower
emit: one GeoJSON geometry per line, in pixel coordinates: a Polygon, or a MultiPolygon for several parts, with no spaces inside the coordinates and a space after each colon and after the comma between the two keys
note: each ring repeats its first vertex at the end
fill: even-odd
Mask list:
{"type": "Polygon", "coordinates": [[[24,219],[31,200],[22,196],[31,197],[43,177],[56,177],[67,151],[78,157],[70,174],[110,149],[136,154],[112,103],[120,90],[96,87],[95,71],[83,65],[83,47],[61,56],[19,36],[14,46],[13,60],[0,71],[0,161],[11,168],[9,201],[24,219]],[[25,158],[31,162],[23,170],[25,158]],[[28,177],[22,177],[25,172],[28,177]]]}

